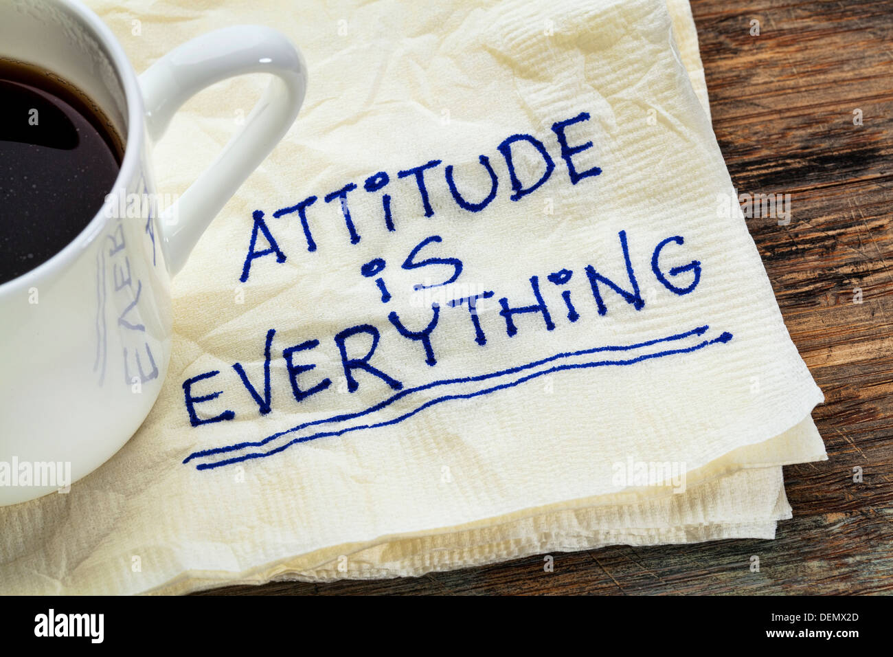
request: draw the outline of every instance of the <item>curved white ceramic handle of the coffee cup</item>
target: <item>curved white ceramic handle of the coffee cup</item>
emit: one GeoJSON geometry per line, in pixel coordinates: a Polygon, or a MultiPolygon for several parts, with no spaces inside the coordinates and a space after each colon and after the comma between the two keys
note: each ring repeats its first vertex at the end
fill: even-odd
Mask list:
{"type": "Polygon", "coordinates": [[[147,131],[157,141],[189,97],[245,73],[271,73],[270,84],[213,164],[160,216],[171,274],[186,263],[204,229],[295,122],[304,101],[307,70],[300,51],[280,32],[238,25],[174,48],[139,76],[147,131]]]}

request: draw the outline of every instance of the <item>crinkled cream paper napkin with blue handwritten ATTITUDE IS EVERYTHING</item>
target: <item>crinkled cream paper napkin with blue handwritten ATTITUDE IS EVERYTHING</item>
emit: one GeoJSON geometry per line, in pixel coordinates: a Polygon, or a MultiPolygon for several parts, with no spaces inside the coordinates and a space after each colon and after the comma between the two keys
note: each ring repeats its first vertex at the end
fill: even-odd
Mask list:
{"type": "MultiPolygon", "coordinates": [[[[826,458],[822,392],[721,210],[686,2],[90,4],[138,71],[252,22],[310,88],[173,282],[138,434],[0,510],[4,593],[412,576],[790,517],[780,466],[826,458]]],[[[160,189],[265,83],[184,105],[160,189]]]]}

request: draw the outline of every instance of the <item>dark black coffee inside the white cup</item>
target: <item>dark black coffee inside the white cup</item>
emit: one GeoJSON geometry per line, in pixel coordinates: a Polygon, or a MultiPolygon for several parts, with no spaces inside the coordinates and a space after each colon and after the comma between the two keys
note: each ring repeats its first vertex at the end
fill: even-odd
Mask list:
{"type": "Polygon", "coordinates": [[[53,73],[0,58],[0,283],[77,237],[112,191],[121,139],[53,73]]]}

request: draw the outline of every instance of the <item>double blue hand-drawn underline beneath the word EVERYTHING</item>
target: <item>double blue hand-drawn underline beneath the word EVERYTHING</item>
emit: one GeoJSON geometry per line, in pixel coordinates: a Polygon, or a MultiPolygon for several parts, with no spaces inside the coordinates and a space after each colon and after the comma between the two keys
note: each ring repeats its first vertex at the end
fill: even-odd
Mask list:
{"type": "MultiPolygon", "coordinates": [[[[486,380],[488,378],[493,378],[493,377],[497,377],[497,376],[514,374],[514,373],[520,372],[524,369],[529,369],[530,367],[543,365],[545,363],[551,362],[556,359],[572,358],[574,356],[581,356],[581,355],[586,355],[586,354],[590,354],[590,353],[596,353],[598,351],[626,351],[626,350],[638,349],[641,347],[647,347],[647,346],[650,346],[653,344],[657,344],[660,342],[681,340],[683,338],[689,337],[690,335],[703,335],[707,331],[707,329],[708,329],[708,326],[706,326],[706,325],[699,326],[696,329],[692,329],[691,331],[687,331],[685,333],[677,333],[675,335],[670,335],[670,336],[667,336],[664,338],[658,338],[655,340],[650,340],[650,341],[645,341],[645,342],[638,342],[636,344],[622,345],[622,346],[596,347],[596,348],[588,349],[588,350],[565,352],[565,353],[555,354],[555,356],[551,356],[549,358],[542,358],[538,361],[533,361],[531,363],[527,363],[526,365],[515,366],[515,367],[509,368],[509,369],[501,370],[498,372],[493,372],[493,373],[486,374],[486,375],[468,376],[468,377],[462,377],[462,378],[456,378],[456,379],[446,379],[443,381],[435,381],[435,382],[431,382],[431,383],[426,383],[424,385],[417,386],[415,388],[409,388],[405,391],[398,392],[395,395],[393,395],[392,397],[388,398],[388,400],[381,401],[380,403],[378,403],[374,406],[371,406],[368,409],[364,409],[364,410],[358,411],[356,413],[345,414],[342,416],[328,417],[328,418],[323,418],[323,419],[319,419],[319,420],[313,420],[312,422],[306,422],[301,425],[296,425],[290,429],[286,429],[285,431],[281,431],[277,434],[272,434],[270,436],[267,436],[266,438],[263,439],[263,441],[260,441],[260,442],[242,442],[242,443],[238,443],[237,445],[230,445],[227,447],[219,447],[219,448],[215,448],[212,450],[196,451],[196,452],[190,454],[186,459],[184,459],[183,463],[187,463],[189,460],[197,458],[197,457],[210,456],[213,454],[220,454],[220,453],[229,452],[229,451],[236,451],[236,450],[242,449],[244,447],[261,447],[264,444],[266,444],[267,442],[270,442],[271,440],[275,440],[276,438],[279,438],[283,435],[290,434],[295,431],[299,431],[300,429],[306,428],[308,426],[321,425],[321,424],[327,424],[330,422],[339,422],[339,421],[343,421],[346,419],[354,419],[356,417],[362,417],[364,415],[368,415],[369,413],[375,412],[379,409],[385,408],[386,406],[392,404],[396,400],[399,400],[399,399],[405,397],[407,394],[411,394],[413,392],[419,392],[422,390],[427,390],[427,389],[433,388],[438,385],[447,385],[450,383],[470,383],[470,382],[475,382],[475,381],[482,381],[482,380],[486,380]]],[[[424,404],[422,404],[417,409],[413,409],[412,411],[409,411],[409,412],[405,413],[404,415],[396,417],[391,420],[382,421],[380,423],[371,424],[371,425],[350,426],[345,429],[340,429],[338,431],[320,432],[317,434],[301,436],[301,437],[296,438],[290,442],[287,442],[286,444],[281,445],[280,447],[278,447],[274,450],[271,450],[271,451],[251,452],[248,454],[244,454],[242,456],[234,457],[232,459],[223,459],[221,461],[217,461],[214,463],[200,464],[200,465],[196,466],[196,469],[199,469],[199,470],[211,469],[213,467],[222,467],[222,466],[230,465],[233,463],[238,463],[240,461],[245,461],[248,459],[262,459],[264,457],[272,456],[273,454],[277,454],[280,451],[284,451],[284,450],[288,449],[288,447],[291,447],[292,445],[297,444],[299,442],[308,442],[308,441],[315,440],[317,438],[343,435],[343,434],[346,434],[346,433],[349,433],[352,431],[359,431],[361,429],[373,429],[373,428],[378,428],[381,426],[395,425],[399,422],[403,422],[405,419],[407,419],[409,417],[413,417],[413,415],[421,412],[421,410],[427,409],[430,406],[434,406],[435,404],[441,403],[443,401],[472,399],[473,397],[478,397],[480,395],[489,394],[491,392],[497,392],[499,390],[513,388],[516,385],[519,385],[526,381],[530,381],[531,379],[537,378],[538,376],[548,375],[548,374],[552,374],[555,372],[560,372],[563,370],[570,370],[570,369],[584,369],[584,368],[589,368],[589,367],[609,366],[609,365],[618,365],[618,366],[633,365],[635,363],[641,362],[643,360],[647,360],[649,358],[663,358],[665,356],[671,356],[673,354],[690,353],[692,351],[703,349],[704,347],[706,347],[710,344],[714,344],[716,342],[728,342],[731,339],[732,339],[731,333],[725,332],[725,333],[722,333],[718,338],[714,338],[713,340],[709,340],[709,341],[702,341],[702,342],[698,343],[697,345],[694,345],[692,347],[685,348],[685,349],[658,351],[656,353],[643,354],[642,356],[638,356],[637,358],[628,358],[625,360],[602,360],[602,361],[595,361],[595,362],[591,362],[591,363],[578,363],[578,364],[555,366],[555,367],[551,367],[547,370],[543,370],[541,372],[536,372],[531,375],[523,376],[522,378],[520,378],[516,381],[513,381],[511,383],[502,383],[502,384],[499,384],[496,386],[492,386],[485,390],[481,390],[481,391],[477,391],[477,392],[463,393],[463,394],[444,395],[442,397],[438,397],[436,399],[429,400],[429,401],[425,402],[424,404]]]]}

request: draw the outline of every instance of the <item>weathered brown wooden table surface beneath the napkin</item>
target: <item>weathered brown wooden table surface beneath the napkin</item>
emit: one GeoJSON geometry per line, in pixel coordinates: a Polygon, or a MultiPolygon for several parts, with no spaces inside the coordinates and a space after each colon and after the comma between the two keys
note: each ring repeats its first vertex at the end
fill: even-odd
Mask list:
{"type": "Polygon", "coordinates": [[[789,225],[748,225],[825,393],[814,418],[829,460],[784,468],[794,518],[776,540],[555,554],[553,573],[534,556],[416,578],[209,593],[893,592],[893,0],[691,4],[732,180],[739,193],[791,195],[789,225]]]}

